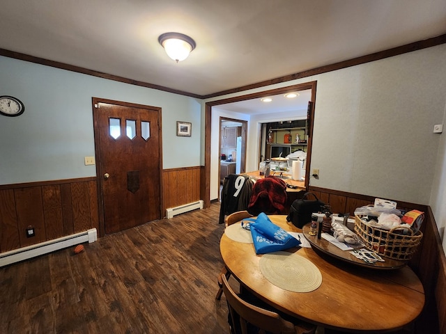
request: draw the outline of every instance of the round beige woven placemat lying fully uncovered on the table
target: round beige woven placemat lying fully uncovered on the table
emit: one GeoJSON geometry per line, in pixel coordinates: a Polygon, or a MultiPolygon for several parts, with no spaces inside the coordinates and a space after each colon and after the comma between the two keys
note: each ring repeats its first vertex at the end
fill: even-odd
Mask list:
{"type": "Polygon", "coordinates": [[[322,283],[322,274],[318,267],[295,253],[264,254],[259,267],[270,283],[288,291],[312,292],[322,283]]]}

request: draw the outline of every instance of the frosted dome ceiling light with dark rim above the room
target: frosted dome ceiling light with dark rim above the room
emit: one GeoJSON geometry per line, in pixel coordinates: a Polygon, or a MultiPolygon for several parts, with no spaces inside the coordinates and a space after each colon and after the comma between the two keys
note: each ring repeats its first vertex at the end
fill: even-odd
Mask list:
{"type": "Polygon", "coordinates": [[[177,63],[184,61],[196,47],[195,41],[183,33],[163,33],[158,38],[158,42],[166,50],[167,56],[177,63]]]}

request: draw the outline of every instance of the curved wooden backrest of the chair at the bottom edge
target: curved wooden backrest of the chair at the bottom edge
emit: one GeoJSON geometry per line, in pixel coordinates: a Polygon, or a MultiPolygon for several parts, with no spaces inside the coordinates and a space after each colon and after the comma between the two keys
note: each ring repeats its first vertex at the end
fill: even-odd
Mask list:
{"type": "Polygon", "coordinates": [[[247,334],[247,324],[252,324],[259,330],[275,334],[295,333],[294,325],[291,322],[282,319],[276,312],[247,303],[233,291],[224,274],[220,278],[223,283],[223,292],[228,302],[231,319],[240,319],[240,328],[243,334],[247,334]]]}

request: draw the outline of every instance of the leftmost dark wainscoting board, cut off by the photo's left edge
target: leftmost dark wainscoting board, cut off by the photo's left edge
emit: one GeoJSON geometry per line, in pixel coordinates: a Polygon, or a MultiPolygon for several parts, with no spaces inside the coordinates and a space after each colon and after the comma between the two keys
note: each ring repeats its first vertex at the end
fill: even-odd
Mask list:
{"type": "Polygon", "coordinates": [[[0,190],[0,252],[20,247],[13,189],[0,190]]]}

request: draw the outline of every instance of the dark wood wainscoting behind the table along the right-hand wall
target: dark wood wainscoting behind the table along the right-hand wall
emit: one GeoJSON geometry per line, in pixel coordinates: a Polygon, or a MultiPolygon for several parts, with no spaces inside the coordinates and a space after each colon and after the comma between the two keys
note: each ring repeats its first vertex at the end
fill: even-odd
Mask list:
{"type": "MultiPolygon", "coordinates": [[[[335,191],[310,186],[309,191],[332,207],[332,212],[350,212],[357,207],[374,203],[376,197],[356,193],[335,191]]],[[[435,218],[429,205],[420,205],[399,201],[397,198],[385,198],[398,203],[399,209],[418,209],[424,212],[421,227],[423,239],[409,266],[417,273],[423,283],[426,302],[420,317],[413,324],[411,333],[446,333],[446,256],[438,232],[435,218]]]]}

